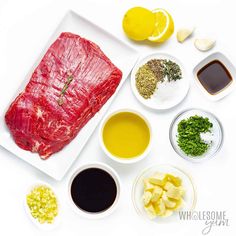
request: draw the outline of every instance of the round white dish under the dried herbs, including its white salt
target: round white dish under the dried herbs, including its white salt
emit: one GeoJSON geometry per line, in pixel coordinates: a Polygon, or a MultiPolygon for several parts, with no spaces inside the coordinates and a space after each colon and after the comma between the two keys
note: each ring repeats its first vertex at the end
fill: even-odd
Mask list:
{"type": "Polygon", "coordinates": [[[142,57],[134,66],[131,72],[131,89],[133,94],[146,107],[154,110],[167,110],[177,106],[186,97],[189,90],[189,80],[186,75],[183,64],[176,57],[167,53],[153,53],[142,57]],[[172,82],[159,83],[159,88],[155,91],[151,98],[143,98],[137,88],[135,75],[138,69],[152,59],[167,59],[177,63],[182,72],[182,79],[172,82]]]}

